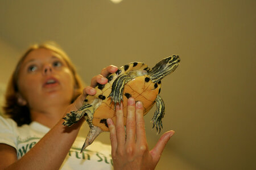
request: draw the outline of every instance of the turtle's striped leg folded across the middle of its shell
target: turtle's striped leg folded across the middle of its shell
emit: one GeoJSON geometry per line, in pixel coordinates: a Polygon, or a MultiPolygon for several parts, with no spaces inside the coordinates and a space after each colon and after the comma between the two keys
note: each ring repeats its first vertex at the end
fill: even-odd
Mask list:
{"type": "Polygon", "coordinates": [[[131,76],[128,74],[122,74],[114,80],[112,84],[112,91],[109,95],[109,97],[111,97],[111,102],[114,101],[114,109],[117,103],[120,104],[120,102],[123,101],[123,88],[130,80],[131,76]]]}

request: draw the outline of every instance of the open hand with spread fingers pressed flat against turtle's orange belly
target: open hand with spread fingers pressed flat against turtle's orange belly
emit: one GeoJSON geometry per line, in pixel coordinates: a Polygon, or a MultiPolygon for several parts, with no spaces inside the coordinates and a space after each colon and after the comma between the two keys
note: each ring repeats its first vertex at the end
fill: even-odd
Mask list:
{"type": "Polygon", "coordinates": [[[123,126],[122,104],[117,106],[116,125],[108,119],[114,169],[155,169],[166,143],[174,134],[168,131],[162,135],[155,147],[149,151],[143,120],[141,101],[135,104],[129,98],[127,105],[126,130],[123,126]]]}

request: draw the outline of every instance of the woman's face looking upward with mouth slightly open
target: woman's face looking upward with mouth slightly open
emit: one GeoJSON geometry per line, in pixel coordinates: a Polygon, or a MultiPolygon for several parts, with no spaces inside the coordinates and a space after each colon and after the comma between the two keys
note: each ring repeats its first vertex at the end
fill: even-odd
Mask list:
{"type": "Polygon", "coordinates": [[[71,103],[74,76],[63,57],[39,48],[24,59],[18,76],[20,97],[30,109],[71,103]]]}

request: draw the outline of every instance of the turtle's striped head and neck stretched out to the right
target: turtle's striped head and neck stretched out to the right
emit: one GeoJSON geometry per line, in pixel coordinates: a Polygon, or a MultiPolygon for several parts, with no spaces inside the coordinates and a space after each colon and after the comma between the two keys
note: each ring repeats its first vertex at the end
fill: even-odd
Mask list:
{"type": "Polygon", "coordinates": [[[179,66],[179,63],[180,57],[177,55],[164,58],[149,71],[148,76],[150,76],[152,82],[159,82],[165,76],[174,72],[177,66],[179,66]]]}

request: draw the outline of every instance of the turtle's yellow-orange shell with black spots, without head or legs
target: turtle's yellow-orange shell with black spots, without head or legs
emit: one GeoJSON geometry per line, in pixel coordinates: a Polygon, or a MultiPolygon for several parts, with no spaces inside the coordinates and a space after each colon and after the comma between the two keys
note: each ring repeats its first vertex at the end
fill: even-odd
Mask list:
{"type": "Polygon", "coordinates": [[[96,87],[96,95],[87,96],[86,103],[94,105],[93,121],[94,126],[100,127],[103,131],[109,131],[106,120],[112,118],[115,124],[115,110],[114,102],[111,100],[110,92],[112,91],[112,84],[114,80],[124,73],[133,71],[138,74],[137,77],[125,84],[123,89],[123,116],[124,124],[126,124],[127,115],[127,100],[133,97],[135,101],[142,101],[144,108],[144,115],[150,111],[155,104],[156,96],[160,93],[161,83],[153,83],[147,76],[147,71],[150,69],[145,63],[133,62],[123,67],[120,67],[115,73],[108,76],[108,83],[105,85],[98,84],[96,87]]]}

